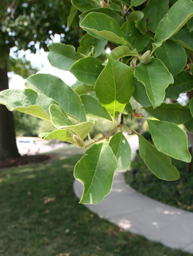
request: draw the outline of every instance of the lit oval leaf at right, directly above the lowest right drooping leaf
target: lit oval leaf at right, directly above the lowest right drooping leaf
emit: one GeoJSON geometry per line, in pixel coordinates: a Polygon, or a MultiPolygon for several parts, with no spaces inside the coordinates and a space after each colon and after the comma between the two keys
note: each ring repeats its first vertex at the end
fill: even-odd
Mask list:
{"type": "Polygon", "coordinates": [[[191,162],[186,133],[173,122],[147,120],[158,151],[184,162],[191,162]]]}

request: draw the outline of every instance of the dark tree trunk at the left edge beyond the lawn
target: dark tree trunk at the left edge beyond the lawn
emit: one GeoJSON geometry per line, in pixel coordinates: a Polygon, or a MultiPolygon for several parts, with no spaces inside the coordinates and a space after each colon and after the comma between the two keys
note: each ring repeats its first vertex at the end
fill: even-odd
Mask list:
{"type": "MultiPolygon", "coordinates": [[[[8,88],[7,61],[4,60],[3,67],[0,66],[0,91],[8,88]]],[[[13,113],[0,104],[0,161],[19,156],[15,141],[13,113]]]]}

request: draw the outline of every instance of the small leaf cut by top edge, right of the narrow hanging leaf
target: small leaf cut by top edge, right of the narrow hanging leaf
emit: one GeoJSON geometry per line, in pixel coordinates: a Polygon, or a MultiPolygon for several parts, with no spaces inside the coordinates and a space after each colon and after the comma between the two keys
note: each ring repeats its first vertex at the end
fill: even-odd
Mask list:
{"type": "Polygon", "coordinates": [[[71,0],[73,6],[79,9],[81,12],[85,12],[85,10],[90,10],[93,8],[99,8],[100,0],[71,0]]]}

